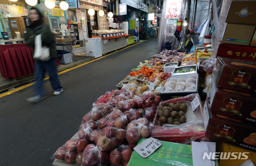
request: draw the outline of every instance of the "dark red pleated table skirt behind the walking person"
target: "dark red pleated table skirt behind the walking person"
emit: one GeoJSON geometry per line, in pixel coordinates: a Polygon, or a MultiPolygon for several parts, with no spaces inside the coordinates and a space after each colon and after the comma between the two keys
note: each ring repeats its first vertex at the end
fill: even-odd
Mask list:
{"type": "MultiPolygon", "coordinates": [[[[58,66],[58,58],[56,61],[58,66]]],[[[23,43],[0,45],[0,71],[4,78],[17,78],[34,73],[33,48],[23,43]]]]}

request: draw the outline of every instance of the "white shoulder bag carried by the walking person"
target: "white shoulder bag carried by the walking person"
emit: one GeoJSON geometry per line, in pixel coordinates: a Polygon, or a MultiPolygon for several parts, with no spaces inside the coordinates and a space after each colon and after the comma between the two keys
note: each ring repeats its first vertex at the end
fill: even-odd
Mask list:
{"type": "Polygon", "coordinates": [[[47,46],[42,47],[41,34],[35,37],[35,48],[33,58],[39,61],[48,61],[50,59],[50,49],[47,46]]]}

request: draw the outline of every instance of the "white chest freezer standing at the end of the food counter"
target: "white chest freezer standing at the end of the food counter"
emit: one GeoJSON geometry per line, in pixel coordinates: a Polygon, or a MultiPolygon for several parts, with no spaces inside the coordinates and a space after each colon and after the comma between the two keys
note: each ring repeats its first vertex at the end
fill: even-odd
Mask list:
{"type": "Polygon", "coordinates": [[[87,38],[85,39],[86,56],[102,56],[101,38],[87,38]]]}

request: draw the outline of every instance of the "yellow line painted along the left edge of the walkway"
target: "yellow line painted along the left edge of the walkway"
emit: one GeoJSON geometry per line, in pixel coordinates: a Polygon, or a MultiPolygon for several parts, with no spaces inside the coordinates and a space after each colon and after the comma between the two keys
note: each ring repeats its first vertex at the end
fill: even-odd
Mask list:
{"type": "MultiPolygon", "coordinates": [[[[155,37],[153,37],[153,38],[155,38],[155,37]]],[[[150,38],[150,39],[153,39],[153,38],[150,38]]],[[[150,40],[150,39],[147,39],[147,40],[150,40]]],[[[144,41],[146,41],[146,40],[144,40],[144,41]]],[[[142,43],[142,42],[144,42],[144,41],[141,41],[141,42],[139,42],[139,43],[142,43]]],[[[117,52],[119,52],[119,51],[122,51],[122,50],[124,50],[124,49],[127,49],[127,48],[129,48],[129,47],[131,47],[131,46],[134,46],[134,45],[137,45],[137,44],[139,44],[139,43],[130,45],[130,46],[125,47],[125,48],[123,48],[123,49],[121,49],[121,50],[118,50],[118,51],[114,51],[114,52],[112,52],[112,53],[110,53],[110,54],[104,55],[104,56],[99,57],[99,58],[97,58],[97,59],[94,59],[94,60],[92,60],[92,61],[89,61],[89,62],[86,62],[86,63],[82,63],[81,65],[78,65],[78,66],[69,68],[69,69],[67,69],[67,70],[64,70],[64,71],[62,71],[62,72],[59,72],[58,74],[60,75],[60,74],[63,74],[63,73],[65,73],[65,72],[68,72],[68,71],[70,71],[70,70],[73,70],[73,69],[75,69],[75,68],[84,66],[84,65],[86,65],[86,64],[88,64],[88,63],[91,63],[91,62],[100,60],[100,59],[102,59],[102,58],[104,58],[104,57],[107,57],[107,56],[109,56],[109,55],[112,55],[112,54],[114,54],[114,53],[117,53],[117,52]]],[[[44,78],[44,81],[47,80],[47,79],[49,79],[49,77],[44,78]]],[[[30,87],[30,86],[33,85],[33,84],[35,84],[35,83],[32,82],[32,83],[29,83],[29,84],[27,84],[27,85],[23,85],[23,86],[21,86],[21,87],[18,87],[18,88],[15,88],[15,89],[13,89],[13,90],[10,90],[9,92],[5,92],[5,93],[3,93],[3,94],[0,94],[0,98],[1,98],[1,97],[4,97],[4,96],[6,96],[6,95],[12,94],[12,93],[14,93],[14,92],[17,92],[17,91],[19,91],[19,90],[21,90],[21,89],[30,87]]]]}

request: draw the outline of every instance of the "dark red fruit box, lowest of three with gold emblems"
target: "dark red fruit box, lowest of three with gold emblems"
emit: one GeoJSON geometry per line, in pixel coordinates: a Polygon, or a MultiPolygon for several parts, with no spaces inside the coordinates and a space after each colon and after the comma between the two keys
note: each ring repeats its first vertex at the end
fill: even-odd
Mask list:
{"type": "Polygon", "coordinates": [[[206,137],[256,152],[256,126],[203,109],[206,137]]]}

